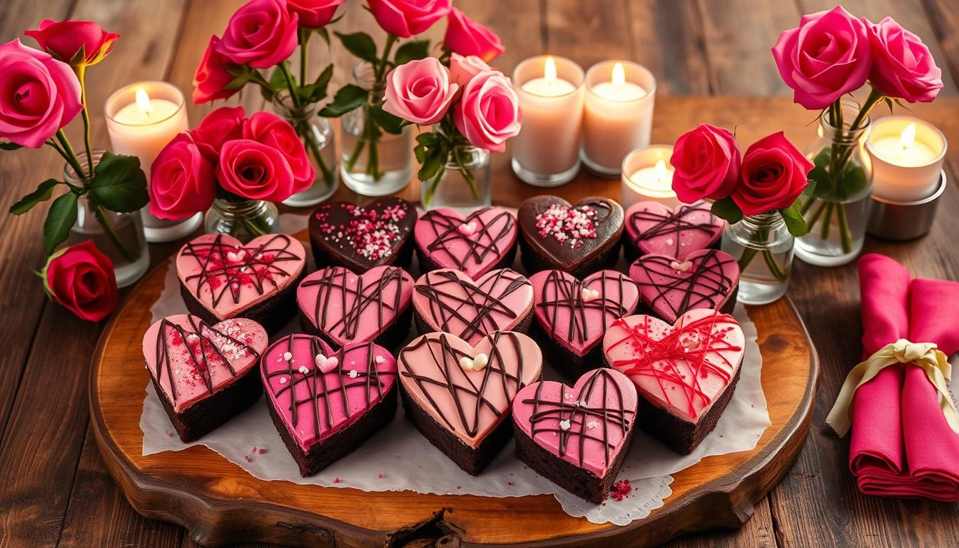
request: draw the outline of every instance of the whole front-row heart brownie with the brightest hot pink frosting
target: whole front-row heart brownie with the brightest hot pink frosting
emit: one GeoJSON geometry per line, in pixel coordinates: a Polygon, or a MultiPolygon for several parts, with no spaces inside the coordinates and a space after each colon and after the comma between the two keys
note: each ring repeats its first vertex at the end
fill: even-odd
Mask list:
{"type": "Polygon", "coordinates": [[[396,361],[373,343],[333,350],[313,335],[269,345],[260,374],[270,415],[300,473],[315,474],[396,413],[396,361]]]}

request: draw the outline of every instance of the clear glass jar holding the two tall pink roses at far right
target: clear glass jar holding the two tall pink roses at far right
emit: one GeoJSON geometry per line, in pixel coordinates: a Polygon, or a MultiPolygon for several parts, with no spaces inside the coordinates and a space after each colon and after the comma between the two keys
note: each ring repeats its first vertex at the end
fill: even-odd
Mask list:
{"type": "Polygon", "coordinates": [[[816,187],[802,205],[809,233],[797,240],[796,256],[823,267],[844,265],[859,256],[869,224],[873,163],[865,143],[870,119],[858,120],[854,101],[843,101],[841,113],[834,125],[836,113],[823,111],[819,137],[806,149],[815,164],[809,179],[816,187]]]}

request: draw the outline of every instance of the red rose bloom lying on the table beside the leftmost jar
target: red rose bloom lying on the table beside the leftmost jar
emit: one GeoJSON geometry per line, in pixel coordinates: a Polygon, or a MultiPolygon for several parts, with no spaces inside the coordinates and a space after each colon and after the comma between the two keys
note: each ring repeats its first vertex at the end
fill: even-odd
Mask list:
{"type": "Polygon", "coordinates": [[[50,297],[82,320],[100,322],[117,305],[113,263],[93,240],[54,253],[41,274],[50,297]]]}

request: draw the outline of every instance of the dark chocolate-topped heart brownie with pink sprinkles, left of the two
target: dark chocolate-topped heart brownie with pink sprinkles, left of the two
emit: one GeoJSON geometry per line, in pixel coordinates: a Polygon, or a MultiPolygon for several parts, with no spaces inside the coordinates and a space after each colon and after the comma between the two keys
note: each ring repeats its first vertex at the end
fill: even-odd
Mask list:
{"type": "Polygon", "coordinates": [[[407,265],[416,206],[386,197],[359,206],[324,203],[310,215],[316,266],[339,265],[364,273],[381,265],[407,265]]]}

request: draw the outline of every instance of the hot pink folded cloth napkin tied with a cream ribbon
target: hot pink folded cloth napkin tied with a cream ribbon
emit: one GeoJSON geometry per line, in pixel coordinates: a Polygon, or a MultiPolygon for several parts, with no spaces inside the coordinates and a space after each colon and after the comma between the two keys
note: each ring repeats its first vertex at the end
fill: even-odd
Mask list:
{"type": "MultiPolygon", "coordinates": [[[[877,253],[859,259],[863,359],[898,339],[959,351],[959,283],[912,279],[877,253]]],[[[849,465],[863,493],[959,502],[959,435],[923,369],[882,369],[853,398],[849,465]]]]}

